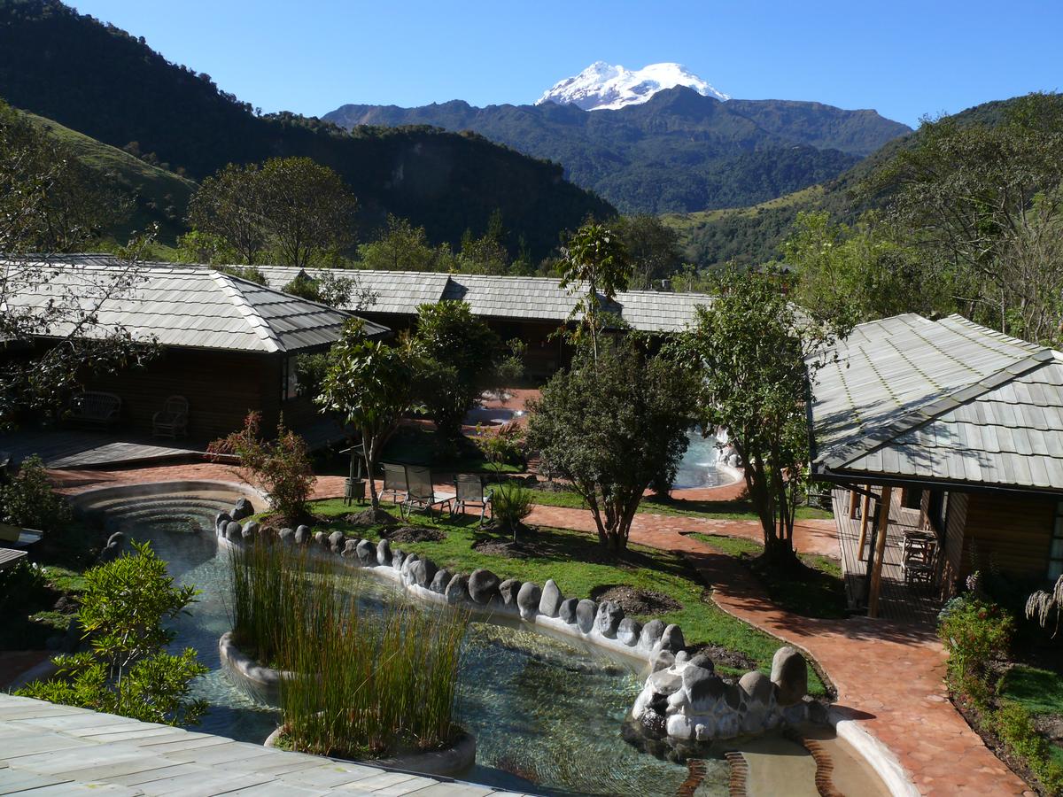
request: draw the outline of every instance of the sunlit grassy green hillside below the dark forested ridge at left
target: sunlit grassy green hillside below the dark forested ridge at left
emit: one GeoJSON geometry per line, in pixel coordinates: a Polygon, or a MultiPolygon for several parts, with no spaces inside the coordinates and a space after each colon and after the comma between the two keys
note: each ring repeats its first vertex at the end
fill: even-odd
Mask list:
{"type": "Polygon", "coordinates": [[[133,198],[130,218],[112,231],[117,240],[124,241],[134,230],[145,230],[155,223],[158,224],[161,242],[172,245],[176,241],[185,230],[188,200],[196,190],[193,181],[145,163],[51,119],[23,113],[31,122],[66,145],[101,180],[120,187],[133,198]]]}

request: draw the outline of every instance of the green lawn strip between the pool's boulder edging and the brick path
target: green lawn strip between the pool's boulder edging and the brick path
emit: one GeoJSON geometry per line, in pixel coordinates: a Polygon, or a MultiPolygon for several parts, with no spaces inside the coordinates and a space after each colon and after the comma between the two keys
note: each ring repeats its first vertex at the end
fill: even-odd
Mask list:
{"type": "MultiPolygon", "coordinates": [[[[381,538],[379,527],[354,528],[342,520],[352,508],[343,506],[341,499],[315,502],[311,511],[319,519],[314,527],[316,531],[339,529],[351,537],[372,541],[381,538]]],[[[390,508],[389,511],[396,512],[390,508]]],[[[415,514],[410,523],[433,525],[421,514],[415,514]]],[[[755,661],[765,673],[771,669],[775,650],[782,644],[718,608],[697,574],[678,555],[632,545],[624,558],[617,560],[604,554],[590,535],[542,528],[524,541],[535,547],[534,554],[514,559],[475,550],[473,544],[490,535],[482,531],[472,518],[444,519],[436,527],[446,532],[445,539],[395,547],[429,558],[452,572],[468,574],[486,567],[500,578],[519,578],[540,586],[553,578],[566,596],[586,597],[595,587],[613,584],[662,592],[679,601],[682,608],[660,617],[681,626],[688,644],[708,643],[735,650],[755,661]]],[[[726,667],[721,669],[726,671],[726,667]]],[[[814,673],[810,676],[810,690],[814,695],[825,694],[814,673]]]]}

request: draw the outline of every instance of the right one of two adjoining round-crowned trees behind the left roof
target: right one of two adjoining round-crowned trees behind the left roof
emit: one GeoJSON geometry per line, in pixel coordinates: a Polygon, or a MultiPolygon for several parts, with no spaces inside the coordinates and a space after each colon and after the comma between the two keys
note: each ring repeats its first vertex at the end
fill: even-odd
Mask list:
{"type": "Polygon", "coordinates": [[[284,265],[306,268],[354,243],[358,203],[327,166],[274,157],[263,164],[256,183],[263,227],[284,265]]]}

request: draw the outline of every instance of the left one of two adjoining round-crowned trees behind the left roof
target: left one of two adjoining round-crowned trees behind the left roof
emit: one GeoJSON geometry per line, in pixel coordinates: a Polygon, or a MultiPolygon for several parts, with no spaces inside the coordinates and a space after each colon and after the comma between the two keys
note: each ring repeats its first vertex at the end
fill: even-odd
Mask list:
{"type": "Polygon", "coordinates": [[[230,164],[204,179],[188,202],[192,233],[182,236],[181,249],[207,255],[197,262],[216,262],[218,256],[233,262],[230,254],[249,266],[259,262],[269,232],[261,219],[260,177],[257,164],[230,164]]]}

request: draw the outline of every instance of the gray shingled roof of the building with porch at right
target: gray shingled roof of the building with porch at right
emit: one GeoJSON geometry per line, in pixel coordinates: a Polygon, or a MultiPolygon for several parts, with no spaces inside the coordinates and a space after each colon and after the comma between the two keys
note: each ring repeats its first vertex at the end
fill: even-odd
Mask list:
{"type": "Polygon", "coordinates": [[[811,408],[817,469],[1063,490],[1063,354],[972,323],[857,326],[811,408]]]}

